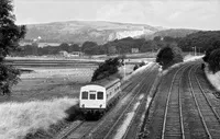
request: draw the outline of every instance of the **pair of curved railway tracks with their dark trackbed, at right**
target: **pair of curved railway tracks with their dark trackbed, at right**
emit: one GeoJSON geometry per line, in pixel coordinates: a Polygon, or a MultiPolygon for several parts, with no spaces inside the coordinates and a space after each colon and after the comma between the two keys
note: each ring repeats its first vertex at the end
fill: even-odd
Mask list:
{"type": "Polygon", "coordinates": [[[220,139],[220,102],[198,74],[200,63],[163,77],[139,139],[220,139]]]}

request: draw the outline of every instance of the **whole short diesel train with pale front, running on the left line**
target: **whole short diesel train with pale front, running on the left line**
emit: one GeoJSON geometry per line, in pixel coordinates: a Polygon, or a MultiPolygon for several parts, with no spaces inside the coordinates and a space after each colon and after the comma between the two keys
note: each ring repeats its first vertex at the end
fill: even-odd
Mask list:
{"type": "Polygon", "coordinates": [[[108,78],[84,85],[79,93],[79,108],[84,114],[101,114],[116,103],[121,94],[118,78],[108,78]]]}

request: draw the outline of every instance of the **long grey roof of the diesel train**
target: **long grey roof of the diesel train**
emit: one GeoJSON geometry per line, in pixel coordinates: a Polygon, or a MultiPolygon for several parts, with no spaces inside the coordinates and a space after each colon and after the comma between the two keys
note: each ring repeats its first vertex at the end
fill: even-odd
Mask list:
{"type": "Polygon", "coordinates": [[[91,82],[90,84],[96,84],[96,85],[101,85],[101,86],[105,86],[105,88],[109,88],[109,86],[111,86],[112,84],[114,84],[117,82],[120,82],[119,78],[108,77],[108,78],[91,82]]]}

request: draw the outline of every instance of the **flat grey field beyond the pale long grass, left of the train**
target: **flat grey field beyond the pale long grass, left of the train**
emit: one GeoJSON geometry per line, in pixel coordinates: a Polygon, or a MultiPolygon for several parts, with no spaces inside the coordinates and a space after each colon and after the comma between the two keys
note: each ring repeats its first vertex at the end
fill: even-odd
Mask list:
{"type": "MultiPolygon", "coordinates": [[[[133,65],[125,66],[127,74],[133,71],[133,65]]],[[[90,82],[97,68],[92,66],[76,67],[23,67],[32,72],[22,73],[21,81],[12,88],[11,96],[1,96],[0,102],[26,102],[48,100],[52,97],[78,97],[80,86],[90,82]]],[[[124,68],[119,69],[119,77],[124,76],[124,68]]]]}

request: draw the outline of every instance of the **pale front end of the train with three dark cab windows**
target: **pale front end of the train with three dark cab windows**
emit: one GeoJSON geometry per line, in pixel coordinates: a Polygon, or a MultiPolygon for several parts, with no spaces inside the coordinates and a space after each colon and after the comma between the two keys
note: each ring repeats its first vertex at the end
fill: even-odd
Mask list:
{"type": "Polygon", "coordinates": [[[80,90],[79,107],[84,114],[103,113],[106,100],[106,89],[103,86],[86,85],[80,90]]]}

